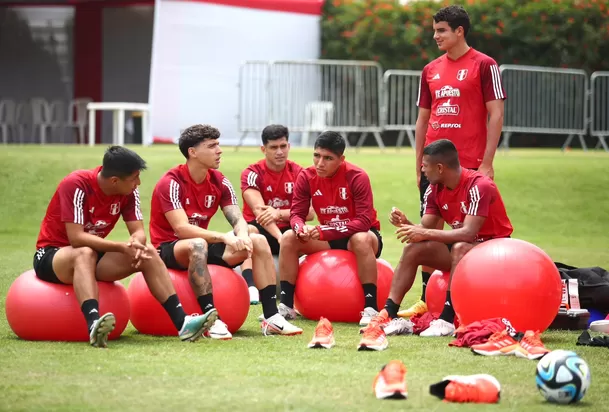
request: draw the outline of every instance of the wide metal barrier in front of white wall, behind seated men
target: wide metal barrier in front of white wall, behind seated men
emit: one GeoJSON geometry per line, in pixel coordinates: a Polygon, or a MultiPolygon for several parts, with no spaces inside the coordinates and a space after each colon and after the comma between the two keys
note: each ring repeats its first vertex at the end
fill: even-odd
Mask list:
{"type": "Polygon", "coordinates": [[[259,133],[271,123],[302,133],[302,145],[310,133],[333,130],[346,139],[360,133],[361,147],[372,133],[381,138],[382,68],[366,61],[248,61],[239,79],[238,146],[249,133],[259,133]]]}

